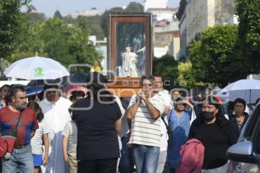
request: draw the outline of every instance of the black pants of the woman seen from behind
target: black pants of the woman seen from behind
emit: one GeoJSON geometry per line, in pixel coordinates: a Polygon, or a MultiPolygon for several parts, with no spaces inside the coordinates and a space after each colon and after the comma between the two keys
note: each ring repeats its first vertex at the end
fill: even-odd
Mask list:
{"type": "Polygon", "coordinates": [[[117,159],[96,159],[78,161],[78,173],[116,173],[117,159]]]}

